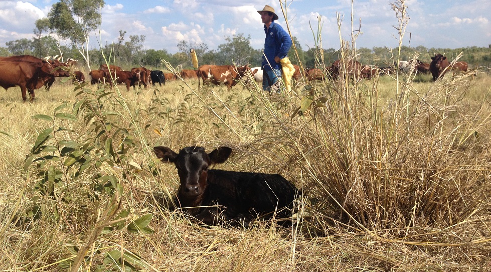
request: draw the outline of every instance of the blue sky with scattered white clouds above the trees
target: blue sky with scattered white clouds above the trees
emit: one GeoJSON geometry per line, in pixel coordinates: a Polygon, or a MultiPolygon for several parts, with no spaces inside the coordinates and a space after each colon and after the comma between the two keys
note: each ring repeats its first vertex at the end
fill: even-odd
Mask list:
{"type": "MultiPolygon", "coordinates": [[[[21,38],[32,38],[35,21],[46,17],[57,1],[0,0],[0,46],[21,38]],[[15,19],[14,19],[15,18],[15,19]]],[[[277,21],[286,28],[280,3],[286,8],[292,35],[303,50],[315,44],[317,18],[321,18],[322,47],[339,48],[340,33],[337,15],[341,22],[341,37],[350,40],[352,5],[348,0],[288,0],[288,1],[230,1],[230,0],[153,0],[122,1],[105,0],[102,25],[91,36],[91,48],[117,42],[119,30],[130,35],[144,35],[144,49],[178,51],[177,44],[205,43],[209,49],[217,49],[225,43],[225,37],[242,33],[251,37],[251,45],[261,49],[264,31],[260,15],[264,5],[272,6],[280,17],[277,21]],[[313,31],[312,31],[313,29],[313,31]],[[100,31],[100,34],[99,34],[100,31]]],[[[398,25],[393,1],[356,1],[353,5],[353,26],[361,34],[357,47],[389,47],[398,45],[398,25]]],[[[406,0],[409,23],[403,44],[427,48],[487,47],[491,44],[491,1],[423,1],[406,0]],[[410,34],[409,34],[410,33],[410,34]]]]}

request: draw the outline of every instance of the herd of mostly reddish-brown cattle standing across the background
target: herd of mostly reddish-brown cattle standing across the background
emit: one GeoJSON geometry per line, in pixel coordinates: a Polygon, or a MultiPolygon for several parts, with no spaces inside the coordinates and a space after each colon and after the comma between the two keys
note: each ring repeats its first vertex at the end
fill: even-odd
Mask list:
{"type": "MultiPolygon", "coordinates": [[[[319,68],[307,68],[303,72],[300,67],[293,65],[295,72],[292,79],[299,80],[302,77],[306,80],[326,80],[328,78],[337,79],[342,74],[353,79],[371,79],[374,75],[385,75],[394,73],[394,68],[398,67],[406,73],[431,73],[433,81],[443,76],[448,70],[467,71],[468,65],[463,61],[449,62],[448,59],[441,55],[435,54],[431,57],[431,63],[423,63],[419,60],[401,61],[398,65],[391,67],[375,67],[362,65],[356,60],[342,61],[337,60],[331,66],[319,68]]],[[[35,97],[34,90],[45,86],[49,89],[56,77],[70,76],[70,69],[76,64],[73,59],[67,62],[60,62],[60,58],[36,58],[29,55],[0,57],[0,86],[8,89],[19,86],[22,92],[22,99],[27,100],[35,97]],[[60,68],[61,67],[61,68],[60,68]]],[[[132,68],[130,71],[123,71],[121,67],[103,64],[97,70],[91,70],[91,84],[109,84],[113,87],[114,83],[126,85],[129,91],[131,86],[147,87],[150,83],[160,86],[166,81],[176,80],[178,76],[183,79],[197,79],[198,87],[201,82],[216,85],[226,85],[228,89],[236,85],[237,82],[250,73],[257,82],[262,82],[261,67],[250,68],[249,65],[202,65],[197,70],[184,69],[179,73],[163,73],[160,70],[149,70],[145,67],[132,68]]],[[[73,72],[74,79],[79,82],[85,82],[85,75],[81,71],[73,72]]],[[[246,77],[247,78],[247,77],[246,77]]],[[[247,80],[247,79],[246,79],[247,80]]]]}

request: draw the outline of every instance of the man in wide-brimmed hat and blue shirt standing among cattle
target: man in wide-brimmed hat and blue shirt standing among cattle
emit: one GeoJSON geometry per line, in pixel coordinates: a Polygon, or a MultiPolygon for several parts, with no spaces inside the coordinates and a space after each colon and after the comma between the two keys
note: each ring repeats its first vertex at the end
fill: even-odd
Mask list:
{"type": "Polygon", "coordinates": [[[263,90],[271,92],[280,92],[281,81],[281,64],[280,60],[286,57],[291,47],[291,38],[288,33],[274,21],[278,16],[274,9],[268,5],[264,6],[262,11],[257,11],[261,15],[264,23],[264,40],[263,61],[263,90]]]}

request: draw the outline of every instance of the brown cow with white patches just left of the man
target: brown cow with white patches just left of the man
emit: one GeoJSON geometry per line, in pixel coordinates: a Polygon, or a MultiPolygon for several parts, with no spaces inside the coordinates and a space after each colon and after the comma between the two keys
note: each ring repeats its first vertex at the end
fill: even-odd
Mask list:
{"type": "Polygon", "coordinates": [[[227,85],[230,90],[232,86],[237,84],[237,80],[246,75],[247,71],[251,71],[249,65],[235,67],[234,65],[203,65],[198,68],[198,88],[200,88],[200,78],[205,82],[211,82],[215,85],[227,85]]]}

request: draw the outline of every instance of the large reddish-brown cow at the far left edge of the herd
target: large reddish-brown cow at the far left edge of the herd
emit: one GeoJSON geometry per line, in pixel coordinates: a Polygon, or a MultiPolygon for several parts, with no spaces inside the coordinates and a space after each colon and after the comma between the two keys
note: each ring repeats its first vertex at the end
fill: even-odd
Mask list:
{"type": "Polygon", "coordinates": [[[22,60],[0,60],[0,86],[6,90],[10,87],[21,87],[22,99],[27,100],[29,90],[30,100],[34,100],[35,89],[43,86],[51,76],[58,76],[53,66],[46,61],[29,62],[22,60]]]}

